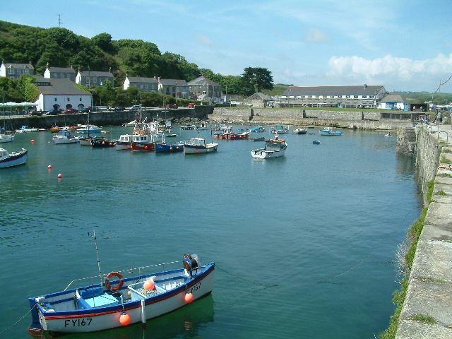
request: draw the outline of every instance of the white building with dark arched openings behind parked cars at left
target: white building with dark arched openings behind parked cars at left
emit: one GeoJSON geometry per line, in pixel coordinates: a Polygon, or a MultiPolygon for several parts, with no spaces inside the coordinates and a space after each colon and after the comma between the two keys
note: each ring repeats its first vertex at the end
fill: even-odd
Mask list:
{"type": "Polygon", "coordinates": [[[49,111],[51,109],[83,109],[93,107],[93,95],[75,87],[69,79],[48,79],[35,76],[34,82],[40,91],[36,109],[49,111]]]}

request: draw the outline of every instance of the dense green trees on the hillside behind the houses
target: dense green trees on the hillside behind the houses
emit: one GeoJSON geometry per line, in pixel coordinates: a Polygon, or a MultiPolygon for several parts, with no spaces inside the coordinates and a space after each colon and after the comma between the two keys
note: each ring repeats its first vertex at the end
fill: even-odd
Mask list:
{"type": "MultiPolygon", "coordinates": [[[[50,67],[72,67],[76,71],[111,70],[117,87],[107,91],[95,89],[93,94],[100,97],[105,95],[105,102],[114,100],[119,104],[133,97],[131,93],[123,93],[124,90],[121,89],[126,75],[147,78],[160,76],[166,79],[184,79],[187,82],[198,76],[206,76],[222,85],[223,93],[245,97],[273,89],[273,76],[268,69],[247,67],[240,76],[223,76],[210,69],[200,69],[182,55],[162,53],[153,42],[112,40],[107,32],[88,38],[76,35],[66,28],[37,28],[0,20],[0,57],[5,63],[31,62],[36,74],[43,74],[47,64],[50,67]]],[[[18,86],[19,81],[16,80],[0,79],[0,88],[6,93],[7,100],[25,99],[24,87],[18,86]]],[[[126,103],[128,101],[124,102],[126,103]]]]}

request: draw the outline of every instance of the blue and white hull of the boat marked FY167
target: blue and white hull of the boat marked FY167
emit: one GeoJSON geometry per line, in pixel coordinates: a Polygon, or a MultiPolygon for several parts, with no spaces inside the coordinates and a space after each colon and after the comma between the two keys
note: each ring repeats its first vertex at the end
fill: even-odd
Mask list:
{"type": "MultiPolygon", "coordinates": [[[[209,295],[213,290],[215,263],[203,266],[202,269],[201,273],[196,273],[193,278],[190,278],[186,271],[182,269],[124,279],[124,287],[118,291],[118,294],[127,295],[128,291],[131,292],[131,300],[124,301],[124,304],[115,302],[112,306],[106,305],[105,307],[90,307],[89,304],[86,306],[86,302],[82,302],[83,297],[80,297],[79,292],[83,289],[67,290],[52,295],[30,298],[29,301],[33,316],[33,323],[30,328],[41,328],[44,331],[51,331],[52,333],[105,331],[123,326],[120,321],[123,312],[130,316],[130,323],[145,322],[148,319],[162,316],[163,314],[186,306],[190,302],[186,301],[186,294],[191,293],[194,300],[209,295]],[[152,294],[150,297],[145,297],[134,287],[136,285],[143,287],[143,282],[150,279],[154,279],[155,290],[158,292],[152,294]],[[138,280],[141,283],[136,283],[138,280]],[[165,283],[160,283],[160,281],[163,282],[164,280],[165,283]],[[174,288],[170,289],[172,280],[174,280],[174,288]],[[181,281],[183,283],[177,285],[181,281]],[[52,309],[52,303],[57,305],[65,302],[65,300],[71,304],[74,304],[74,300],[76,300],[76,302],[85,304],[86,308],[71,311],[57,311],[52,309]]],[[[90,288],[96,287],[100,288],[98,284],[90,286],[90,288]]],[[[85,287],[83,288],[85,289],[85,287]]],[[[113,299],[108,294],[100,297],[113,299]]]]}

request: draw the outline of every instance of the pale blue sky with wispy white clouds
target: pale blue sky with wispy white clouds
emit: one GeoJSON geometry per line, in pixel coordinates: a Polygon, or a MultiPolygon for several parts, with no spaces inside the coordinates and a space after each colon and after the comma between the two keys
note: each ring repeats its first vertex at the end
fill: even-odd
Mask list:
{"type": "Polygon", "coordinates": [[[452,93],[451,0],[4,0],[0,20],[153,42],[223,76],[452,93]]]}

